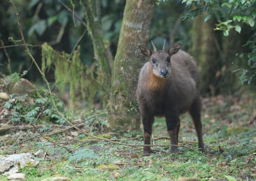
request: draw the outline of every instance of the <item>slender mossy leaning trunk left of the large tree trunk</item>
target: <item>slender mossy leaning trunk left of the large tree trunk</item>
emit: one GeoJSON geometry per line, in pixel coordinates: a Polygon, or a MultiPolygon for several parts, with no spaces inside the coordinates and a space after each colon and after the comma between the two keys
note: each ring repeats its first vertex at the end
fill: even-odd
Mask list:
{"type": "Polygon", "coordinates": [[[113,60],[109,55],[108,47],[103,42],[103,32],[100,19],[96,14],[94,0],[85,0],[84,8],[86,8],[87,30],[93,42],[95,59],[98,62],[99,81],[106,90],[109,90],[111,88],[111,65],[113,60]]]}

